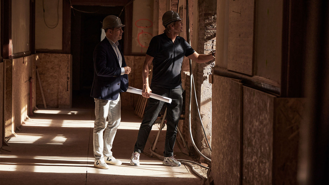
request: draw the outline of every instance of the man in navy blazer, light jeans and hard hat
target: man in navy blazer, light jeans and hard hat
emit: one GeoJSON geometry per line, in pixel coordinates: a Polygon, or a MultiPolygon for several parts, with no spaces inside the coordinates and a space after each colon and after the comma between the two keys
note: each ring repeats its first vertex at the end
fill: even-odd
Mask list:
{"type": "Polygon", "coordinates": [[[120,92],[127,91],[128,74],[131,71],[118,43],[122,39],[123,26],[119,17],[105,17],[103,29],[106,37],[96,45],[93,53],[94,80],[90,96],[95,100],[96,116],[93,130],[94,167],[100,169],[108,169],[107,163],[122,164],[113,157],[111,148],[121,120],[120,92]]]}

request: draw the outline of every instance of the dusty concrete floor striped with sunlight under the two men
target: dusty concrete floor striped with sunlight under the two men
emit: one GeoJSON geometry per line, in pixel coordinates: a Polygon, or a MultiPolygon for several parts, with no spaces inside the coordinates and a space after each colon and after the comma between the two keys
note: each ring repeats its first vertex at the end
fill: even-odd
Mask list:
{"type": "MultiPolygon", "coordinates": [[[[113,156],[122,165],[110,165],[107,170],[93,167],[93,109],[38,110],[35,114],[17,131],[18,137],[9,140],[10,146],[2,147],[0,184],[201,184],[189,166],[164,166],[158,158],[149,157],[149,142],[140,155],[140,166],[130,166],[141,122],[133,111],[122,112],[114,139],[113,156]]],[[[152,142],[158,127],[152,128],[152,142]]],[[[165,130],[157,144],[161,155],[164,136],[165,130]]],[[[176,146],[174,151],[177,159],[191,160],[176,146]]]]}

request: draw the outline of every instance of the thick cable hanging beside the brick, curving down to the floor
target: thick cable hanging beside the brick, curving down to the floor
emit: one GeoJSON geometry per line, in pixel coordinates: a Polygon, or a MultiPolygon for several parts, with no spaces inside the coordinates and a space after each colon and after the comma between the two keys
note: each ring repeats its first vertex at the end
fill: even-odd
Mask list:
{"type": "MultiPolygon", "coordinates": [[[[187,37],[187,42],[191,45],[191,40],[190,40],[190,20],[189,20],[189,0],[186,0],[186,37],[187,37]]],[[[200,152],[200,150],[196,147],[193,136],[192,136],[192,131],[191,131],[191,102],[192,102],[192,79],[193,79],[193,73],[192,73],[192,60],[189,59],[190,62],[190,97],[189,97],[189,133],[190,133],[190,138],[191,138],[191,143],[194,147],[194,149],[206,160],[211,162],[211,159],[206,157],[203,153],[200,152]]]]}

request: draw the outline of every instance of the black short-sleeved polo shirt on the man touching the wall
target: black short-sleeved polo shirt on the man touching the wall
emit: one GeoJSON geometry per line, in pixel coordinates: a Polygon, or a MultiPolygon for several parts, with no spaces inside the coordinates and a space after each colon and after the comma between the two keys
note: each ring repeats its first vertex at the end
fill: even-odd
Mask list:
{"type": "Polygon", "coordinates": [[[182,87],[181,69],[184,56],[194,53],[190,44],[177,36],[175,43],[165,34],[153,37],[150,41],[147,55],[154,57],[152,86],[164,88],[182,87]]]}

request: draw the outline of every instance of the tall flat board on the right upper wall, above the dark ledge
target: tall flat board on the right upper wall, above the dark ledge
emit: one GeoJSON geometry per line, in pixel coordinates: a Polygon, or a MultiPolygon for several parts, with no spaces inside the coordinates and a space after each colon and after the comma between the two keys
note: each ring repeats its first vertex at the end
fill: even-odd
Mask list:
{"type": "Polygon", "coordinates": [[[230,0],[228,31],[229,70],[252,75],[254,0],[230,0]]]}

